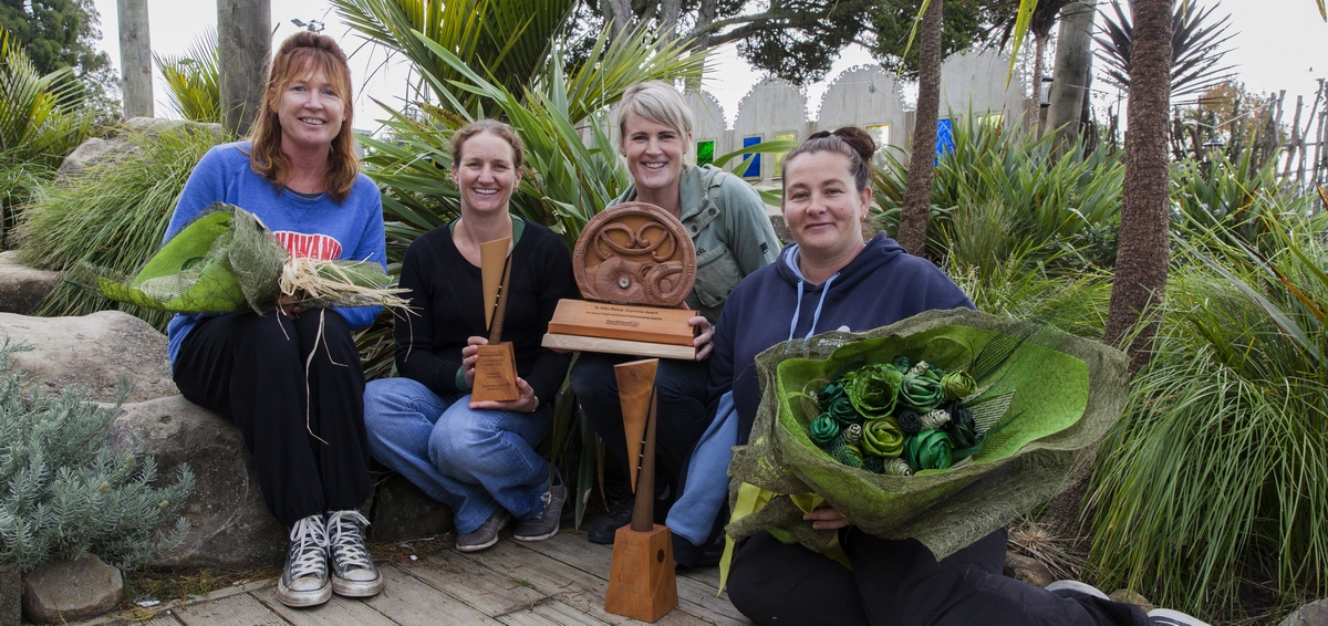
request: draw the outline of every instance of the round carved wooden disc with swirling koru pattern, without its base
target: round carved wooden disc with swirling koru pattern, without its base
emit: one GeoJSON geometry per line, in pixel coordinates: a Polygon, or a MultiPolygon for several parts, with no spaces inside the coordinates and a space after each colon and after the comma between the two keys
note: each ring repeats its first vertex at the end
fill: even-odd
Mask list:
{"type": "Polygon", "coordinates": [[[588,300],[677,306],[696,282],[696,247],[672,214],[628,202],[586,223],[572,271],[588,300]]]}

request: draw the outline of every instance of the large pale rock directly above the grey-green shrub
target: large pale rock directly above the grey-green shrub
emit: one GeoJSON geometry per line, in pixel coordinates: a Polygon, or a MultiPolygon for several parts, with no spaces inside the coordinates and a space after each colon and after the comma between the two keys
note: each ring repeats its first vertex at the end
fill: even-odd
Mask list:
{"type": "Polygon", "coordinates": [[[102,310],[82,317],[24,317],[0,313],[3,337],[25,341],[33,349],[17,353],[12,363],[31,383],[58,393],[74,385],[92,399],[113,402],[120,377],[130,385],[125,402],[175,395],[166,358],[166,336],[147,322],[102,310]]]}

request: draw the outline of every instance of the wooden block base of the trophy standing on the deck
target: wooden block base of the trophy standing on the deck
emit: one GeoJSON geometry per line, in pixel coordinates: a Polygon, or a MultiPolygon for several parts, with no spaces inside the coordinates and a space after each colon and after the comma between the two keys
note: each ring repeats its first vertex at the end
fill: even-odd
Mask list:
{"type": "Polygon", "coordinates": [[[619,528],[604,610],[653,622],[676,607],[677,578],[668,527],[655,524],[649,532],[632,531],[631,525],[619,528]]]}

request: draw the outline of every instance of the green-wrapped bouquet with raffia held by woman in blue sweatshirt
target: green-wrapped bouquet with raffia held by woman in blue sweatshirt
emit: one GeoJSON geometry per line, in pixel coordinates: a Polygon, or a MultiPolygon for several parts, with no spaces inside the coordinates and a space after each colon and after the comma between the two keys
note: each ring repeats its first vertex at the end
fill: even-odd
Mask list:
{"type": "Polygon", "coordinates": [[[263,314],[283,294],[305,308],[404,306],[372,261],[292,259],[252,214],[208,206],[129,281],[97,279],[102,296],[177,313],[263,314]]]}

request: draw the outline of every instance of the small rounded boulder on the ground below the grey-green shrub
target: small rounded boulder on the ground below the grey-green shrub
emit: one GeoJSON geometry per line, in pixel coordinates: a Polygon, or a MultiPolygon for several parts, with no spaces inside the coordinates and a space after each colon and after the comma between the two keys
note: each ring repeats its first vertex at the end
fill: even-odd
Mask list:
{"type": "Polygon", "coordinates": [[[114,609],[124,592],[120,570],[101,558],[61,558],[23,577],[23,615],[35,623],[97,617],[114,609]]]}

